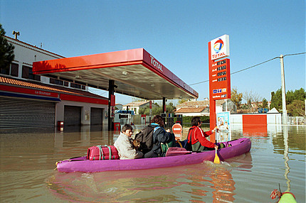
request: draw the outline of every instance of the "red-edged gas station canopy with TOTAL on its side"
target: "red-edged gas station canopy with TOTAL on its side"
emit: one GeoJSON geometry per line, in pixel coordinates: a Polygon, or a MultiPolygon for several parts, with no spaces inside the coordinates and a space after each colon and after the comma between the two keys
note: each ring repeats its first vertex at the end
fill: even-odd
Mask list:
{"type": "Polygon", "coordinates": [[[33,62],[33,73],[148,100],[195,99],[198,92],[143,48],[33,62]]]}

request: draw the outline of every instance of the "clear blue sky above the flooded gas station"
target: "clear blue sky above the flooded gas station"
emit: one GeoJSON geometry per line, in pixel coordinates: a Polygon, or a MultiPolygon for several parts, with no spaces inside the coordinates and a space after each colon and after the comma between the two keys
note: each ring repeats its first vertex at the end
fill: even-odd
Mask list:
{"type": "MultiPolygon", "coordinates": [[[[305,89],[305,0],[0,0],[6,35],[73,57],[144,48],[209,97],[209,41],[229,35],[231,72],[284,57],[285,89],[305,89]]],[[[270,101],[281,88],[280,59],[231,75],[231,87],[270,101]]],[[[108,97],[107,92],[91,90],[108,97]]],[[[116,103],[132,97],[116,95],[116,103]]],[[[176,101],[174,101],[176,103],[176,101]]]]}

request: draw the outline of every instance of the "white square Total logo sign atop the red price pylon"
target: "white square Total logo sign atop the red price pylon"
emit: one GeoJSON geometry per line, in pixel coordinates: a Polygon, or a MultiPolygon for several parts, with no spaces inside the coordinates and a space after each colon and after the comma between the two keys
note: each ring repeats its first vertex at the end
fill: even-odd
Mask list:
{"type": "Polygon", "coordinates": [[[211,60],[229,56],[229,37],[222,35],[211,40],[211,60]]]}

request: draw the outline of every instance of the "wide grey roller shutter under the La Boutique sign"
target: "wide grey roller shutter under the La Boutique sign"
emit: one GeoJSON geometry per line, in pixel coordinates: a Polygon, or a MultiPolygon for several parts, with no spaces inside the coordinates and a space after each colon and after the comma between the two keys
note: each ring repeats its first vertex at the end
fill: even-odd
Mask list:
{"type": "Polygon", "coordinates": [[[0,128],[54,127],[56,103],[0,97],[0,128]]]}

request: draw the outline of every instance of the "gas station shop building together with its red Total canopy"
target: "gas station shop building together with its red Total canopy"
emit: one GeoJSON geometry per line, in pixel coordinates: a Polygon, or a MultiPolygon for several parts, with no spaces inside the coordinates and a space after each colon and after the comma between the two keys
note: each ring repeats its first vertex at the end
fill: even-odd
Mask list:
{"type": "Polygon", "coordinates": [[[198,93],[143,48],[63,57],[21,40],[0,72],[0,128],[108,124],[115,93],[147,100],[194,99],[198,93]],[[109,92],[108,98],[88,87],[109,92]]]}

